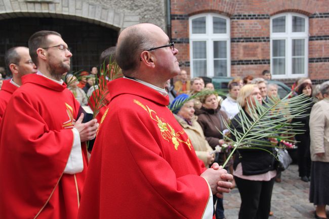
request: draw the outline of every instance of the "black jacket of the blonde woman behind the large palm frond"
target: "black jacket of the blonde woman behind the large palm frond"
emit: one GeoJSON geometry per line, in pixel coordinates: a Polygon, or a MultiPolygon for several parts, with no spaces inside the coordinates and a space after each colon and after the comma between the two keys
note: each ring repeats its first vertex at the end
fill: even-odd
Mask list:
{"type": "MultiPolygon", "coordinates": [[[[237,114],[231,120],[231,127],[234,127],[238,132],[243,133],[242,127],[239,124],[240,118],[237,114]]],[[[252,118],[246,113],[248,118],[252,120],[252,118]]],[[[232,139],[235,141],[234,136],[232,139]]],[[[267,139],[261,139],[268,141],[267,139]]],[[[258,146],[259,148],[262,148],[258,146]]],[[[264,149],[270,151],[271,153],[274,152],[274,148],[271,147],[263,147],[264,149]]],[[[275,157],[267,151],[260,150],[260,149],[237,149],[237,153],[235,155],[234,169],[236,168],[237,164],[241,163],[242,165],[242,174],[245,176],[252,176],[257,174],[262,174],[268,172],[270,170],[274,170],[274,162],[275,157]]]]}

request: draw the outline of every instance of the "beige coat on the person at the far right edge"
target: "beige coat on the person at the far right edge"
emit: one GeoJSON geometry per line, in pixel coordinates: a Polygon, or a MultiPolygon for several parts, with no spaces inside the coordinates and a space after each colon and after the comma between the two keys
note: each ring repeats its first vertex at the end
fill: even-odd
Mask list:
{"type": "Polygon", "coordinates": [[[310,115],[311,160],[329,162],[329,99],[312,107],[310,115]],[[324,153],[319,157],[316,153],[324,153]]]}

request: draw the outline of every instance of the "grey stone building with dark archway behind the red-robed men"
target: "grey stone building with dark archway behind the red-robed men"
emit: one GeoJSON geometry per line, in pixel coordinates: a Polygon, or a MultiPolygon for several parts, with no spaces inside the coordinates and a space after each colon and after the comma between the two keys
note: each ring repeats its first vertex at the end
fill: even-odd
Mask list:
{"type": "Polygon", "coordinates": [[[138,23],[166,29],[166,3],[161,0],[0,0],[0,66],[5,52],[27,46],[38,30],[61,33],[72,56],[72,71],[99,65],[103,50],[115,46],[120,30],[138,23]]]}

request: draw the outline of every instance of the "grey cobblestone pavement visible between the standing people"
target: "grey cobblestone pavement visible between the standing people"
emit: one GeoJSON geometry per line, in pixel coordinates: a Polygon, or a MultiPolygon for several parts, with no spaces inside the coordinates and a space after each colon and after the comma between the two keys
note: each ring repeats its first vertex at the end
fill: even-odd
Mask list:
{"type": "MultiPolygon", "coordinates": [[[[298,166],[292,164],[281,174],[281,183],[274,183],[269,219],[277,218],[314,218],[315,207],[308,201],[309,183],[298,177],[298,166]]],[[[237,219],[240,208],[240,194],[234,188],[230,194],[224,195],[224,209],[227,219],[237,219]]],[[[329,212],[327,210],[327,215],[329,212]]]]}

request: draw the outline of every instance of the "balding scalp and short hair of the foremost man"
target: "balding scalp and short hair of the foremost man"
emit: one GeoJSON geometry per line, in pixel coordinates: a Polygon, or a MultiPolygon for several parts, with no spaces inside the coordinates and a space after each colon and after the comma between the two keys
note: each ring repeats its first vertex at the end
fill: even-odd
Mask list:
{"type": "Polygon", "coordinates": [[[154,24],[137,24],[127,27],[120,33],[117,40],[116,62],[124,75],[130,76],[130,73],[137,69],[141,52],[154,47],[159,30],[162,31],[154,24]]]}

